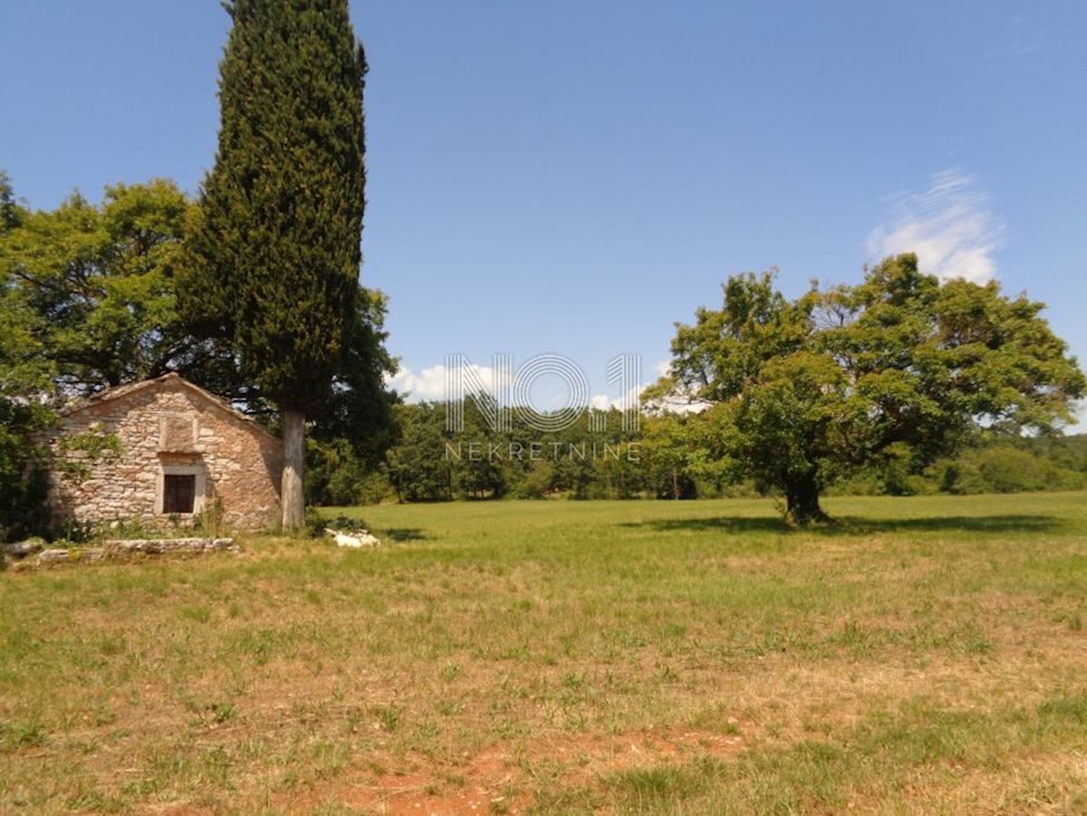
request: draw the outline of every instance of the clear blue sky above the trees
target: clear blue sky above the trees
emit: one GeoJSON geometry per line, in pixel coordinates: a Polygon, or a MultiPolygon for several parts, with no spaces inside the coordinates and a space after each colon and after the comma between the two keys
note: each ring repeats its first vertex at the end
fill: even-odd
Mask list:
{"type": "MultiPolygon", "coordinates": [[[[386,0],[366,285],[416,397],[461,352],[646,378],[729,274],[857,280],[915,249],[1049,304],[1087,359],[1087,3],[386,0]]],[[[214,160],[212,0],[0,4],[0,167],[32,206],[214,160]]]]}

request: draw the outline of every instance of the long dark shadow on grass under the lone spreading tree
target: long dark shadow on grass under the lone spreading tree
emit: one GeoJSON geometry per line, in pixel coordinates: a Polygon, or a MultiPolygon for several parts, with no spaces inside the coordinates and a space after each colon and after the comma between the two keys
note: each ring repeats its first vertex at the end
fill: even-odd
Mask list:
{"type": "Polygon", "coordinates": [[[1009,532],[1042,533],[1070,529],[1063,518],[1040,515],[998,516],[936,516],[932,518],[869,518],[866,516],[836,516],[829,524],[796,527],[783,518],[745,518],[715,516],[713,518],[661,518],[653,522],[627,522],[620,527],[630,527],[672,532],[720,531],[725,533],[773,532],[777,535],[803,533],[810,536],[871,536],[877,532],[979,532],[1001,535],[1009,532]]]}

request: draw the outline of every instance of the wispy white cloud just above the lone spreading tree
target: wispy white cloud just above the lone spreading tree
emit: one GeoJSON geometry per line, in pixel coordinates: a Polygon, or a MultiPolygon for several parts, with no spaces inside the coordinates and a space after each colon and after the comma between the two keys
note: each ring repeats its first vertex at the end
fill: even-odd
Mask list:
{"type": "Polygon", "coordinates": [[[996,277],[992,254],[1003,243],[1003,226],[971,176],[942,171],[927,189],[890,201],[887,225],[869,236],[867,251],[875,260],[916,252],[924,272],[945,279],[984,283],[996,277]]]}

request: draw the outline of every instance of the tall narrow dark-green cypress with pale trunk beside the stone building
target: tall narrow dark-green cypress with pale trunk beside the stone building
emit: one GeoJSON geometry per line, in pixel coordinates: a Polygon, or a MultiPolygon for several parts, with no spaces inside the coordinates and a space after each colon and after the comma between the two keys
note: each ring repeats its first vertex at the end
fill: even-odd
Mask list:
{"type": "Polygon", "coordinates": [[[365,57],[347,0],[233,0],[222,123],[179,289],[280,409],[283,524],[302,525],[305,418],[333,393],[357,321],[365,57]]]}

